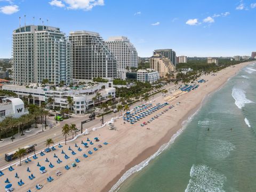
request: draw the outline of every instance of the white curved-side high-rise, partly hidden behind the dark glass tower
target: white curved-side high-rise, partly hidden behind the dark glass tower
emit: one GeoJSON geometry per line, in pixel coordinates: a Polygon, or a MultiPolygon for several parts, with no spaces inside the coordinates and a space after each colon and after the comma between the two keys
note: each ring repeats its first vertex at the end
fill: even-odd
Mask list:
{"type": "Polygon", "coordinates": [[[125,79],[125,74],[127,71],[131,71],[131,67],[138,67],[138,54],[135,47],[127,37],[123,36],[109,37],[106,44],[115,55],[117,77],[125,79]]]}

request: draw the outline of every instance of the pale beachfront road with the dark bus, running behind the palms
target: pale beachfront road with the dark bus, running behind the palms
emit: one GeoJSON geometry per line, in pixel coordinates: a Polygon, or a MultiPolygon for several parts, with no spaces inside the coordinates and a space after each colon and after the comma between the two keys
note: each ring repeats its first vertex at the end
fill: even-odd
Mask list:
{"type": "MultiPolygon", "coordinates": [[[[174,85],[171,85],[171,86],[166,85],[164,88],[165,89],[174,89],[174,85]]],[[[151,96],[150,98],[153,99],[152,97],[154,97],[154,98],[162,97],[162,93],[161,92],[157,93],[154,96],[151,96]]],[[[133,105],[131,105],[131,109],[134,108],[135,106],[140,105],[140,104],[141,104],[141,101],[133,103],[133,105]]],[[[118,115],[118,113],[116,113],[116,115],[118,115]]],[[[28,137],[28,138],[25,138],[25,139],[22,139],[22,140],[19,140],[19,141],[15,141],[15,142],[11,143],[10,145],[0,147],[0,151],[1,151],[0,152],[0,167],[4,167],[4,166],[8,165],[9,163],[13,163],[13,162],[17,161],[17,160],[13,160],[11,162],[6,162],[4,160],[4,156],[5,156],[6,153],[14,151],[18,147],[23,147],[23,146],[26,146],[26,145],[34,145],[34,144],[36,144],[36,151],[41,151],[46,147],[45,143],[44,143],[46,139],[52,138],[55,143],[58,143],[58,142],[63,141],[65,139],[65,137],[61,133],[61,127],[64,124],[66,124],[66,123],[67,124],[73,124],[74,123],[74,124],[76,124],[77,128],[81,129],[81,122],[86,120],[86,119],[89,119],[88,116],[89,115],[86,115],[86,116],[83,116],[83,117],[69,118],[67,120],[64,120],[63,122],[58,122],[58,123],[60,123],[60,125],[57,126],[57,127],[52,128],[50,130],[40,132],[40,133],[38,133],[36,135],[33,135],[31,137],[28,137]]],[[[104,116],[104,122],[109,121],[112,117],[114,117],[114,113],[105,115],[104,116]]],[[[85,129],[88,129],[90,131],[93,127],[97,127],[97,126],[100,126],[100,125],[101,125],[101,117],[96,117],[93,121],[83,124],[83,131],[85,129]]],[[[81,132],[77,132],[77,133],[79,134],[81,132]]],[[[72,138],[72,135],[69,135],[68,139],[71,139],[71,138],[72,138]]],[[[30,153],[29,155],[31,155],[33,153],[34,152],[30,153]]]]}

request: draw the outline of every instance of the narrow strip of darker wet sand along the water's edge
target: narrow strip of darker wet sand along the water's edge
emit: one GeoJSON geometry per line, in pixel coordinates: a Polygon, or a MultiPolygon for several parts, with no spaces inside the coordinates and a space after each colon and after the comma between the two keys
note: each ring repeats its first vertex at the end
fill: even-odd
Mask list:
{"type": "MultiPolygon", "coordinates": [[[[204,95],[204,98],[201,100],[200,103],[198,103],[198,105],[192,109],[190,109],[188,111],[188,113],[183,116],[179,122],[178,125],[174,126],[172,129],[169,129],[169,131],[164,135],[164,137],[162,139],[160,139],[155,146],[151,146],[148,147],[147,149],[145,149],[144,151],[142,151],[140,154],[137,155],[137,157],[133,158],[133,160],[127,164],[125,166],[125,168],[118,174],[116,175],[116,177],[111,180],[102,190],[101,192],[105,192],[105,191],[109,191],[109,192],[114,192],[117,191],[120,187],[122,187],[123,182],[125,182],[125,180],[129,179],[134,173],[132,173],[131,175],[129,175],[124,181],[122,181],[118,186],[116,186],[117,188],[112,189],[114,187],[114,185],[116,185],[116,183],[119,181],[119,179],[121,179],[123,177],[123,175],[129,171],[130,169],[132,169],[132,167],[140,164],[141,162],[145,161],[146,159],[150,158],[150,156],[153,156],[155,153],[157,153],[157,151],[159,150],[159,148],[161,148],[163,145],[167,144],[168,142],[171,141],[173,135],[175,133],[178,133],[179,131],[181,131],[181,133],[183,132],[183,130],[186,129],[187,125],[190,122],[190,118],[193,118],[198,111],[201,109],[201,107],[205,104],[205,102],[207,102],[207,99],[209,99],[209,97],[211,97],[212,94],[214,94],[215,92],[219,91],[222,89],[223,86],[225,86],[227,84],[227,82],[229,81],[229,79],[233,78],[234,76],[236,76],[239,71],[241,71],[245,66],[250,65],[251,62],[246,62],[245,63],[239,63],[238,65],[243,65],[241,68],[239,68],[238,71],[236,71],[235,74],[229,76],[225,82],[223,82],[222,84],[219,85],[219,87],[217,87],[217,89],[211,91],[210,93],[204,95]],[[244,64],[244,65],[243,65],[244,64]],[[185,124],[183,124],[183,122],[186,122],[185,124]],[[112,190],[111,190],[112,189],[112,190]]],[[[235,65],[237,66],[237,65],[235,65]]],[[[226,69],[226,68],[225,68],[226,69]]],[[[225,70],[222,69],[222,70],[225,70]]],[[[219,71],[218,71],[219,72],[219,71]]],[[[218,74],[218,73],[217,73],[218,74]]],[[[179,137],[179,135],[178,135],[179,137]]],[[[176,139],[176,138],[175,138],[176,139]]],[[[174,139],[174,141],[175,141],[174,139]]],[[[174,142],[173,141],[173,142],[174,142]]],[[[164,151],[164,150],[163,150],[164,151]]],[[[162,152],[161,152],[162,153],[162,152]]],[[[161,154],[159,154],[161,155],[161,154]]],[[[157,155],[158,156],[158,155],[157,155]]],[[[150,163],[150,161],[149,161],[150,163]]],[[[145,166],[146,167],[146,166],[145,166]]],[[[144,168],[144,167],[143,167],[144,168]]],[[[138,171],[139,172],[139,171],[138,171]]]]}

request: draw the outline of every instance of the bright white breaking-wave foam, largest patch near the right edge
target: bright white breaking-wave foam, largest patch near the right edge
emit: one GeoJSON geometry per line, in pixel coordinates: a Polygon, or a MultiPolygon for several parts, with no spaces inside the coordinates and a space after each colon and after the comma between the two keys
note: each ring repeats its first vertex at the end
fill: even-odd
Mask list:
{"type": "Polygon", "coordinates": [[[235,99],[235,105],[242,109],[246,103],[253,103],[253,101],[246,99],[245,91],[242,89],[237,89],[233,87],[232,89],[232,97],[235,99]]]}

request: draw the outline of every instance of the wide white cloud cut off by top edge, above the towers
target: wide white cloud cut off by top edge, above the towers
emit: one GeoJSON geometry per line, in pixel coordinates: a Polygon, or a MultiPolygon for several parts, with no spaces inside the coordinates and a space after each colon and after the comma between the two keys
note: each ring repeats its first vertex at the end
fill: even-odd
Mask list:
{"type": "Polygon", "coordinates": [[[84,10],[89,11],[94,6],[104,5],[104,0],[52,0],[49,2],[51,5],[59,7],[67,7],[70,10],[84,10]]]}

